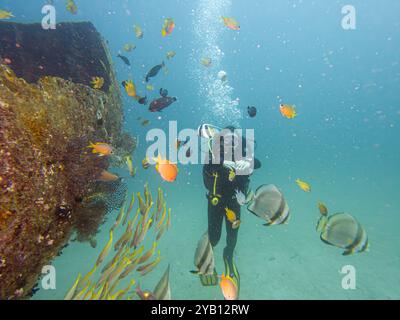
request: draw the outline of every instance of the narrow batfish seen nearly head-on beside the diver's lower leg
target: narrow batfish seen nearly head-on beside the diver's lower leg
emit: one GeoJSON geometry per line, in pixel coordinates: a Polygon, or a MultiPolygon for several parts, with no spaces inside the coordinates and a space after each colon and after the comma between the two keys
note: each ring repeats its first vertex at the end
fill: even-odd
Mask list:
{"type": "Polygon", "coordinates": [[[191,271],[192,273],[202,275],[214,274],[214,252],[208,238],[208,232],[203,234],[197,244],[196,253],[194,255],[194,265],[197,270],[191,271]]]}

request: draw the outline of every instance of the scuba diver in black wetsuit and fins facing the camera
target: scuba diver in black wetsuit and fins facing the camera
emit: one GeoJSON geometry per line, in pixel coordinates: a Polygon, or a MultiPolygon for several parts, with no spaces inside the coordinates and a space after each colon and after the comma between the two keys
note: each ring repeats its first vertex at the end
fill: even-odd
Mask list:
{"type": "MultiPolygon", "coordinates": [[[[208,238],[214,248],[221,238],[222,224],[225,220],[225,275],[235,281],[239,292],[240,275],[234,263],[234,250],[240,226],[241,206],[236,194],[248,194],[249,177],[253,169],[261,167],[261,163],[254,158],[253,144],[246,143],[246,139],[237,134],[238,130],[233,126],[228,126],[220,132],[216,132],[215,128],[210,125],[202,125],[199,128],[199,135],[209,138],[208,158],[203,166],[203,182],[208,191],[208,238]]],[[[199,276],[203,286],[218,284],[215,269],[211,274],[199,276]]]]}

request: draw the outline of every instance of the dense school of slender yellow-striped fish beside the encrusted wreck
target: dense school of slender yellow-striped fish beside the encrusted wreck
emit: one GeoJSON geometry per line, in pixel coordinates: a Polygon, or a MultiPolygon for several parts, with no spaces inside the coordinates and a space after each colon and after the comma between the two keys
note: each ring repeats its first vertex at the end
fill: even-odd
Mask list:
{"type": "Polygon", "coordinates": [[[84,276],[78,275],[64,299],[137,299],[137,293],[132,292],[135,277],[143,277],[159,265],[161,253],[157,251],[158,241],[170,227],[171,209],[167,210],[162,189],[158,188],[154,203],[146,184],[143,197],[140,192],[133,193],[131,199],[122,206],[109,231],[109,240],[92,269],[84,276]],[[132,214],[135,202],[138,206],[135,214],[132,214]],[[121,231],[122,235],[114,239],[121,231]],[[153,242],[150,248],[146,248],[145,239],[149,238],[153,238],[153,242]],[[127,284],[126,279],[129,279],[127,284]]]}

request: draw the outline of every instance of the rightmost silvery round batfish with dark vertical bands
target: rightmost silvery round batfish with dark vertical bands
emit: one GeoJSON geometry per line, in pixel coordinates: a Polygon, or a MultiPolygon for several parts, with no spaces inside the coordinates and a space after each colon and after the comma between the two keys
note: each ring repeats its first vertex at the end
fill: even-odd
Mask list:
{"type": "Polygon", "coordinates": [[[363,226],[348,213],[322,216],[317,225],[321,240],[332,246],[345,249],[350,255],[368,249],[368,236],[363,226]]]}

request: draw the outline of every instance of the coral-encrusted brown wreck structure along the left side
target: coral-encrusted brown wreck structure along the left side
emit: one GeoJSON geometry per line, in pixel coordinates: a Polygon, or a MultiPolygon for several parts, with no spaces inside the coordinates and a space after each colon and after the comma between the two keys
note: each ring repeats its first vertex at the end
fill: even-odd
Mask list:
{"type": "Polygon", "coordinates": [[[124,200],[120,181],[97,181],[109,159],[135,148],[122,134],[111,58],[90,23],[0,23],[0,299],[28,297],[42,266],[68,242],[90,240],[124,200]],[[93,77],[104,79],[93,89],[93,77]],[[80,239],[79,239],[80,238],[80,239]]]}

